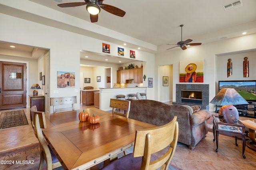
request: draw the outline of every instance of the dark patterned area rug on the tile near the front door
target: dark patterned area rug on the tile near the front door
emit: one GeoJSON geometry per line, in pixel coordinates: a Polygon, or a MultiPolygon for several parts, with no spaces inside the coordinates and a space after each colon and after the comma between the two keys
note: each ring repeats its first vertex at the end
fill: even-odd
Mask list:
{"type": "Polygon", "coordinates": [[[0,129],[28,125],[24,110],[5,111],[0,115],[0,129]]]}

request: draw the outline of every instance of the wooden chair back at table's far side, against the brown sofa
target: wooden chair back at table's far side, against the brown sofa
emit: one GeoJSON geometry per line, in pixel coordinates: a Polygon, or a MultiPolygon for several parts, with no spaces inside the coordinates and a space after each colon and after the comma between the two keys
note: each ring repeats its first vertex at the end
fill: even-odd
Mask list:
{"type": "Polygon", "coordinates": [[[131,101],[110,99],[109,107],[112,107],[112,114],[129,117],[131,101]],[[122,109],[124,113],[116,112],[115,109],[122,109]]]}

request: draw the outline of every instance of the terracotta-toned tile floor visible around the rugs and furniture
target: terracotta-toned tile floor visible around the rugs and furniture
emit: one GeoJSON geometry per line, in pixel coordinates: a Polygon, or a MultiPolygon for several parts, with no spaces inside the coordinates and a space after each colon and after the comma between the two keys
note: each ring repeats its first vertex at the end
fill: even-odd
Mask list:
{"type": "MultiPolygon", "coordinates": [[[[87,107],[80,107],[80,109],[84,108],[87,107]]],[[[0,152],[38,142],[30,124],[29,108],[23,109],[29,125],[0,129],[0,152]]],[[[246,159],[242,157],[242,140],[238,139],[238,146],[235,146],[234,138],[219,135],[219,151],[215,152],[215,149],[213,133],[208,132],[207,137],[198,143],[195,150],[190,150],[188,146],[178,143],[171,164],[182,170],[251,170],[256,167],[255,151],[246,146],[244,153],[246,159]]]]}

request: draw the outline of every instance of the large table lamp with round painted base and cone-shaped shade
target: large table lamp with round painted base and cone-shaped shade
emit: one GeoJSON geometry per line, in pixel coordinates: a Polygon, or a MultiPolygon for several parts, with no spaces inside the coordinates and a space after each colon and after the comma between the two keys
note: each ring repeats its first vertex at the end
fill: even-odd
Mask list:
{"type": "Polygon", "coordinates": [[[210,103],[222,106],[219,110],[219,119],[224,123],[238,121],[238,111],[233,105],[249,104],[235,89],[221,89],[210,103]]]}

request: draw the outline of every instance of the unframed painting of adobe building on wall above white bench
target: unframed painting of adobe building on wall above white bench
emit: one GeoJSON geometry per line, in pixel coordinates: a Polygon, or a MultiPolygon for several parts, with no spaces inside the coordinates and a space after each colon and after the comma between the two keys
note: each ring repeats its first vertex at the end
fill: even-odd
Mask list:
{"type": "Polygon", "coordinates": [[[75,88],[75,72],[57,71],[58,88],[75,88]]]}

